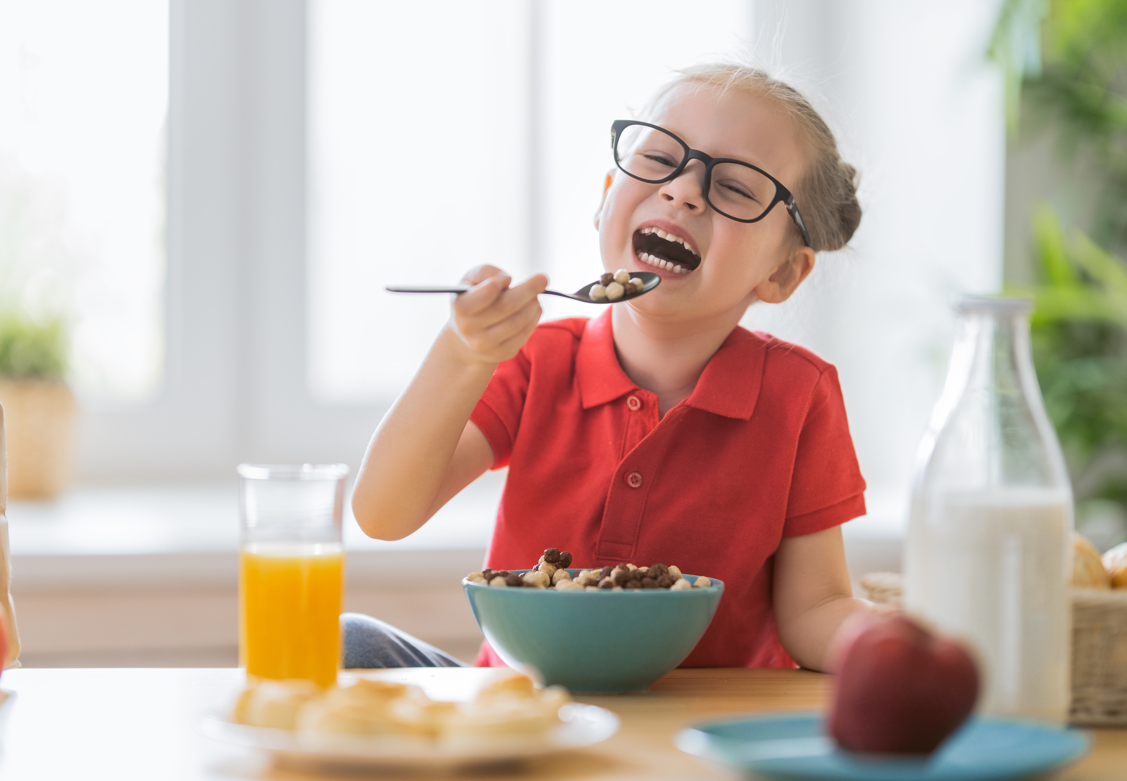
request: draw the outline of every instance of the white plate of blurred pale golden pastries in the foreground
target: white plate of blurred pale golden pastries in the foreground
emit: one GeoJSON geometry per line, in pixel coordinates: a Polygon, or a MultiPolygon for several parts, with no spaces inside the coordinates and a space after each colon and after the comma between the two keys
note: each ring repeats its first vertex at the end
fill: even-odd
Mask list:
{"type": "Polygon", "coordinates": [[[432,698],[396,677],[343,674],[327,690],[308,681],[251,682],[230,712],[205,716],[201,730],[290,765],[440,772],[582,748],[619,728],[613,712],[518,673],[462,686],[455,699],[432,698]]]}

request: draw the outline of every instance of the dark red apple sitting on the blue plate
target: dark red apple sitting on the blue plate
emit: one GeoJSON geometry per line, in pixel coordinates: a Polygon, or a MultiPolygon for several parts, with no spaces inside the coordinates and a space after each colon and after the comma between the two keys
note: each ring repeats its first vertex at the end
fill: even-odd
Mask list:
{"type": "Polygon", "coordinates": [[[930,754],[970,715],[978,670],[960,643],[902,614],[846,622],[848,634],[834,644],[829,711],[842,748],[930,754]]]}

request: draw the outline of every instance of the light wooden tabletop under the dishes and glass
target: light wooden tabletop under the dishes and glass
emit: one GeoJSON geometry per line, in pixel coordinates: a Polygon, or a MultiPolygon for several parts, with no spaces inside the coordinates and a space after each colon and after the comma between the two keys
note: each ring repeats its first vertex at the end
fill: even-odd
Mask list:
{"type": "MultiPolygon", "coordinates": [[[[5,781],[330,778],[272,766],[263,755],[214,743],[196,731],[202,712],[222,708],[241,688],[238,670],[10,670],[2,683],[16,692],[7,724],[0,727],[5,781]]],[[[621,729],[606,743],[481,778],[730,781],[740,776],[677,751],[672,742],[677,730],[717,715],[820,708],[828,684],[827,676],[805,671],[675,670],[645,694],[577,698],[622,718],[621,729]]],[[[1093,737],[1092,753],[1056,778],[1127,778],[1127,729],[1093,730],[1093,737]]]]}

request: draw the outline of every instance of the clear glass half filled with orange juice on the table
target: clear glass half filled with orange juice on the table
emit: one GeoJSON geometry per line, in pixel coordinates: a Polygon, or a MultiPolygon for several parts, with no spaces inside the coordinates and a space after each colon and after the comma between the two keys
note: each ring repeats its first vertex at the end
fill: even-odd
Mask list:
{"type": "Polygon", "coordinates": [[[239,662],[328,686],[340,666],[344,464],[240,464],[239,662]]]}

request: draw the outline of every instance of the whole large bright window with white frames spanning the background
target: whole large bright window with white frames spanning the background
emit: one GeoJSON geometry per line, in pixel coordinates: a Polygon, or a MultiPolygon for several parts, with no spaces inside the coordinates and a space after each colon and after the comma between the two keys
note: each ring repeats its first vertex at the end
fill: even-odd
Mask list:
{"type": "MultiPolygon", "coordinates": [[[[949,303],[999,282],[1001,98],[980,55],[996,9],[838,6],[0,0],[0,197],[17,181],[77,194],[44,214],[66,215],[57,257],[98,270],[73,289],[76,345],[91,345],[77,361],[77,470],[130,482],[229,478],[240,460],[355,467],[447,306],[383,286],[487,261],[562,289],[588,281],[610,122],[671,69],[752,47],[828,108],[866,216],[795,302],[745,322],[838,366],[870,486],[903,491],[943,376],[949,303]],[[32,115],[16,86],[17,53],[32,50],[12,42],[60,19],[42,62],[79,52],[83,68],[60,82],[77,97],[71,114],[32,115]],[[51,137],[28,136],[32,120],[70,129],[60,152],[25,143],[51,137]]],[[[7,252],[10,224],[0,231],[7,252]]],[[[548,317],[591,314],[543,304],[548,317]]]]}

